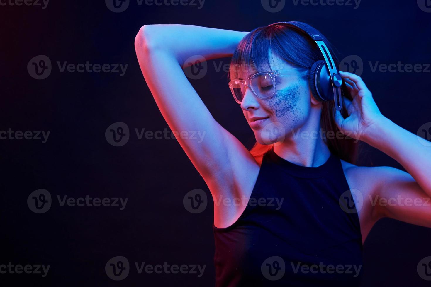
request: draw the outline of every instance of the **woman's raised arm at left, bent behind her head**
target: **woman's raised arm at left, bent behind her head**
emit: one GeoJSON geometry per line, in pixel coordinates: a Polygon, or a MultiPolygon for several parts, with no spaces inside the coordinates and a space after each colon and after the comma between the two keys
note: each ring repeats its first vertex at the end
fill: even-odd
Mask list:
{"type": "MultiPolygon", "coordinates": [[[[171,130],[204,135],[202,142],[182,137],[178,137],[178,142],[213,197],[231,198],[238,183],[246,181],[250,169],[259,167],[247,148],[214,120],[182,67],[191,56],[200,55],[207,60],[231,56],[246,34],[191,25],[145,25],[135,39],[142,73],[171,130]]],[[[215,208],[215,223],[221,222],[218,214],[231,211],[215,208]]]]}

